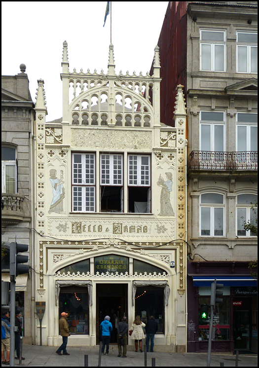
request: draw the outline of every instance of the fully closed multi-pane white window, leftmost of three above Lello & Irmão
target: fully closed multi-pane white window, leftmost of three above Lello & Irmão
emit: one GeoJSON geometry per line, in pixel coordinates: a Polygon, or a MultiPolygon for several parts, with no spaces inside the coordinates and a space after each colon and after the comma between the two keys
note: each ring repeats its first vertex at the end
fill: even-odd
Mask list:
{"type": "MultiPolygon", "coordinates": [[[[90,163],[91,165],[91,163],[90,163]]],[[[79,169],[80,170],[80,169],[79,169]]],[[[90,173],[89,173],[90,174],[90,173]]],[[[72,153],[72,211],[73,212],[96,212],[96,154],[95,152],[73,152],[72,153]],[[74,177],[74,155],[81,156],[81,183],[77,183],[74,177]],[[88,178],[86,173],[86,161],[89,159],[86,155],[92,155],[90,159],[94,159],[93,167],[91,170],[92,178],[88,178]],[[74,210],[74,188],[81,191],[81,210],[74,210]],[[87,192],[91,193],[87,198],[87,192]],[[89,206],[86,205],[86,200],[89,201],[89,206]],[[88,208],[87,208],[88,207],[88,208]]]]}

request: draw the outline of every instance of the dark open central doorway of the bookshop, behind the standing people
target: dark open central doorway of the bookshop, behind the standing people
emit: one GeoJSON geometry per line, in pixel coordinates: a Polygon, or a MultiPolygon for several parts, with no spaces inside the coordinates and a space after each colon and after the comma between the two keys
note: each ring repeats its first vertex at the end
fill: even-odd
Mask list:
{"type": "Polygon", "coordinates": [[[105,316],[112,324],[111,343],[117,343],[116,318],[118,322],[128,315],[128,284],[96,285],[96,343],[100,342],[100,325],[105,316]]]}

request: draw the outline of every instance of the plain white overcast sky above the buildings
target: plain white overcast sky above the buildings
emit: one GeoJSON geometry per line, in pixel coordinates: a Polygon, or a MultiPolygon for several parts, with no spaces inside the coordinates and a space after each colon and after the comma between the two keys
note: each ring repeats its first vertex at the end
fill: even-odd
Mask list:
{"type": "Polygon", "coordinates": [[[68,42],[69,70],[108,71],[114,46],[115,73],[149,72],[168,1],[2,1],[2,75],[26,65],[36,101],[37,79],[44,80],[46,121],[62,117],[62,52],[68,42]],[[6,16],[8,14],[8,16],[6,16]],[[110,39],[111,37],[111,39],[110,39]]]}

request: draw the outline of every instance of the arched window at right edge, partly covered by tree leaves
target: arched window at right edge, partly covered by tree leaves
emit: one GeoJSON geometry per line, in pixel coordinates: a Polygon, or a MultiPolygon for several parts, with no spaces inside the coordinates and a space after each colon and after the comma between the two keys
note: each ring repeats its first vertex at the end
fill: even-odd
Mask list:
{"type": "Polygon", "coordinates": [[[244,222],[257,226],[257,195],[239,194],[237,196],[237,236],[256,236],[251,230],[245,230],[244,222]]]}

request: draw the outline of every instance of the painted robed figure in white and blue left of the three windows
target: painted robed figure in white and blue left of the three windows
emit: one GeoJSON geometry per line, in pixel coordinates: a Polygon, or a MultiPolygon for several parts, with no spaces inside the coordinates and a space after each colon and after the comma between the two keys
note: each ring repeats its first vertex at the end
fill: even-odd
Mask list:
{"type": "Polygon", "coordinates": [[[50,175],[50,183],[52,185],[53,190],[53,199],[49,208],[48,213],[51,214],[51,212],[56,212],[60,214],[60,212],[63,211],[63,199],[65,197],[65,188],[62,184],[64,184],[63,181],[63,170],[60,170],[60,179],[57,178],[57,170],[51,169],[49,171],[50,175]]]}

